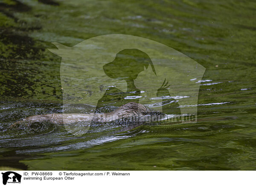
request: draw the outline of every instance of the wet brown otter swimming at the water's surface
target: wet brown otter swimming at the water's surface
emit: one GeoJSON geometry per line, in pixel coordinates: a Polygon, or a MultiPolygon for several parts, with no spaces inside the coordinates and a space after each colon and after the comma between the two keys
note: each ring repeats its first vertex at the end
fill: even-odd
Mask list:
{"type": "MultiPolygon", "coordinates": [[[[140,103],[130,102],[122,105],[118,109],[109,113],[53,113],[53,114],[43,114],[29,116],[22,121],[16,122],[11,125],[11,127],[20,125],[24,122],[51,122],[54,124],[64,124],[64,123],[75,123],[75,122],[111,122],[114,120],[122,119],[132,122],[143,122],[148,116],[153,116],[154,120],[157,120],[159,116],[165,117],[166,114],[161,113],[157,110],[148,108],[140,103]],[[144,120],[143,120],[144,119],[144,120]]],[[[152,117],[150,118],[152,119],[152,117]]]]}

